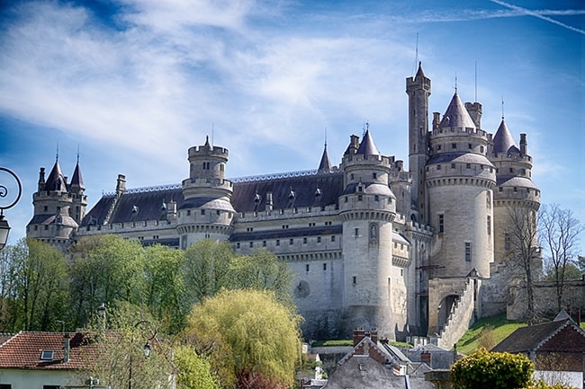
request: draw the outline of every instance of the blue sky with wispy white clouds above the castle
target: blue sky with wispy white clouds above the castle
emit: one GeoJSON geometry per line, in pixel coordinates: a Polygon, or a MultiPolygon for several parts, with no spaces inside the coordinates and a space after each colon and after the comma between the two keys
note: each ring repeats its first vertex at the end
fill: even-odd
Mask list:
{"type": "Polygon", "coordinates": [[[57,149],[69,177],[79,150],[90,207],[118,173],[129,188],[182,181],[187,148],[206,135],[229,148],[229,177],[314,169],[326,132],[339,164],[366,120],[381,152],[408,164],[405,78],[417,58],[431,112],[446,110],[456,78],[495,132],[503,98],[543,202],[585,222],[582,1],[0,4],[0,166],[23,181],[4,211],[10,243],[57,149]]]}

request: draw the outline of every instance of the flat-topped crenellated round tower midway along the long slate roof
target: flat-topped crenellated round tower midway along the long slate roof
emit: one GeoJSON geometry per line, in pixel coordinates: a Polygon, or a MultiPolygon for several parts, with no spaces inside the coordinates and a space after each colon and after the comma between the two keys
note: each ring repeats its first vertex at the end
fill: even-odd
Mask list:
{"type": "Polygon", "coordinates": [[[184,203],[176,230],[182,249],[202,239],[229,238],[236,211],[231,206],[231,181],[225,179],[228,149],[209,144],[189,148],[189,178],[182,182],[184,203]]]}

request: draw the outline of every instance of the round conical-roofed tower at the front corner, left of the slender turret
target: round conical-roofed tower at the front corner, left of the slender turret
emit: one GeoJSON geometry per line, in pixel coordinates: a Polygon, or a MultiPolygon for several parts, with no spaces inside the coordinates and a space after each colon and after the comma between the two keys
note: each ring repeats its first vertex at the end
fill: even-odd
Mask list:
{"type": "Polygon", "coordinates": [[[343,223],[343,333],[356,327],[394,336],[391,306],[392,220],[396,198],[388,186],[391,162],[365,131],[352,136],[340,166],[345,174],[339,216],[343,223]]]}

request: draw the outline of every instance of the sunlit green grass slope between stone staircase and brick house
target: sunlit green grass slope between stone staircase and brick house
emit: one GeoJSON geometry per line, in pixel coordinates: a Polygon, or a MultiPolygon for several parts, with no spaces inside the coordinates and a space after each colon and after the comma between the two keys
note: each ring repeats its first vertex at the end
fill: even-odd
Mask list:
{"type": "Polygon", "coordinates": [[[486,317],[473,323],[464,336],[457,342],[457,350],[471,354],[482,345],[491,349],[517,328],[526,327],[527,323],[506,320],[506,314],[486,317]]]}

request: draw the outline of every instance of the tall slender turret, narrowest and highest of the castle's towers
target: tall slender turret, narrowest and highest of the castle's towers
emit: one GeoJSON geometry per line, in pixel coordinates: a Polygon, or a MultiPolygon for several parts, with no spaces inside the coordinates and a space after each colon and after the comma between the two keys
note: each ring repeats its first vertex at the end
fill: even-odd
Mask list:
{"type": "MultiPolygon", "coordinates": [[[[419,63],[417,75],[406,79],[409,95],[409,170],[412,173],[411,197],[419,213],[418,221],[428,223],[428,201],[425,188],[425,165],[428,160],[428,96],[430,79],[419,63]]],[[[417,218],[417,217],[413,217],[417,218]]]]}

